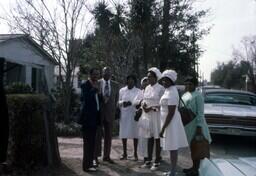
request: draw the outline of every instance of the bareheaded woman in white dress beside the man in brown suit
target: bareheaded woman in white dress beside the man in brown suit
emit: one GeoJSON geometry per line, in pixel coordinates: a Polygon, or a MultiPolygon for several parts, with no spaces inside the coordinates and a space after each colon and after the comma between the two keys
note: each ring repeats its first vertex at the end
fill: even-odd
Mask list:
{"type": "Polygon", "coordinates": [[[135,87],[136,81],[137,79],[134,75],[127,76],[127,86],[119,91],[119,107],[121,110],[119,137],[123,143],[121,160],[127,159],[127,139],[133,139],[134,158],[138,160],[138,123],[134,120],[136,108],[133,102],[136,96],[141,94],[141,90],[135,87]]]}

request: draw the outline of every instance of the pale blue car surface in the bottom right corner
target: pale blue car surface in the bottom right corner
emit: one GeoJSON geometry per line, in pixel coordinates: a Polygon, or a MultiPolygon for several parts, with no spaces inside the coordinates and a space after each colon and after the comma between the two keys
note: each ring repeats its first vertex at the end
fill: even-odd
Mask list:
{"type": "Polygon", "coordinates": [[[201,161],[200,176],[256,176],[256,157],[201,161]]]}

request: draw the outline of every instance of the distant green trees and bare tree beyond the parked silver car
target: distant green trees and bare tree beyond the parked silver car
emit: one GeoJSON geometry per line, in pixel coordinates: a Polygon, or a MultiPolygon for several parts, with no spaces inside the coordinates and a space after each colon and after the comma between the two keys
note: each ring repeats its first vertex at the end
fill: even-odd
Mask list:
{"type": "Polygon", "coordinates": [[[219,63],[212,72],[211,82],[228,89],[256,92],[256,36],[241,40],[241,44],[233,49],[232,60],[219,63]]]}

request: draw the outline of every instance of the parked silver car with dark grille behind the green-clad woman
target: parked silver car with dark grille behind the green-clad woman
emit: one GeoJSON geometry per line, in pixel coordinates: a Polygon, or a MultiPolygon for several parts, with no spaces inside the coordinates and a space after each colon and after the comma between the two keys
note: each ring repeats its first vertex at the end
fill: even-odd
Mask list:
{"type": "Polygon", "coordinates": [[[256,94],[206,89],[204,114],[212,134],[256,136],[256,94]]]}

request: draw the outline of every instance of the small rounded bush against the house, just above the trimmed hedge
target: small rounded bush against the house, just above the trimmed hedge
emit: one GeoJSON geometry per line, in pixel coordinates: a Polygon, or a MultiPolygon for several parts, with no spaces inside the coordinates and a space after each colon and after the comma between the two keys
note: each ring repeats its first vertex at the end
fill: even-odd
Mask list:
{"type": "Polygon", "coordinates": [[[29,94],[32,93],[32,88],[25,83],[15,82],[6,87],[8,94],[29,94]]]}

